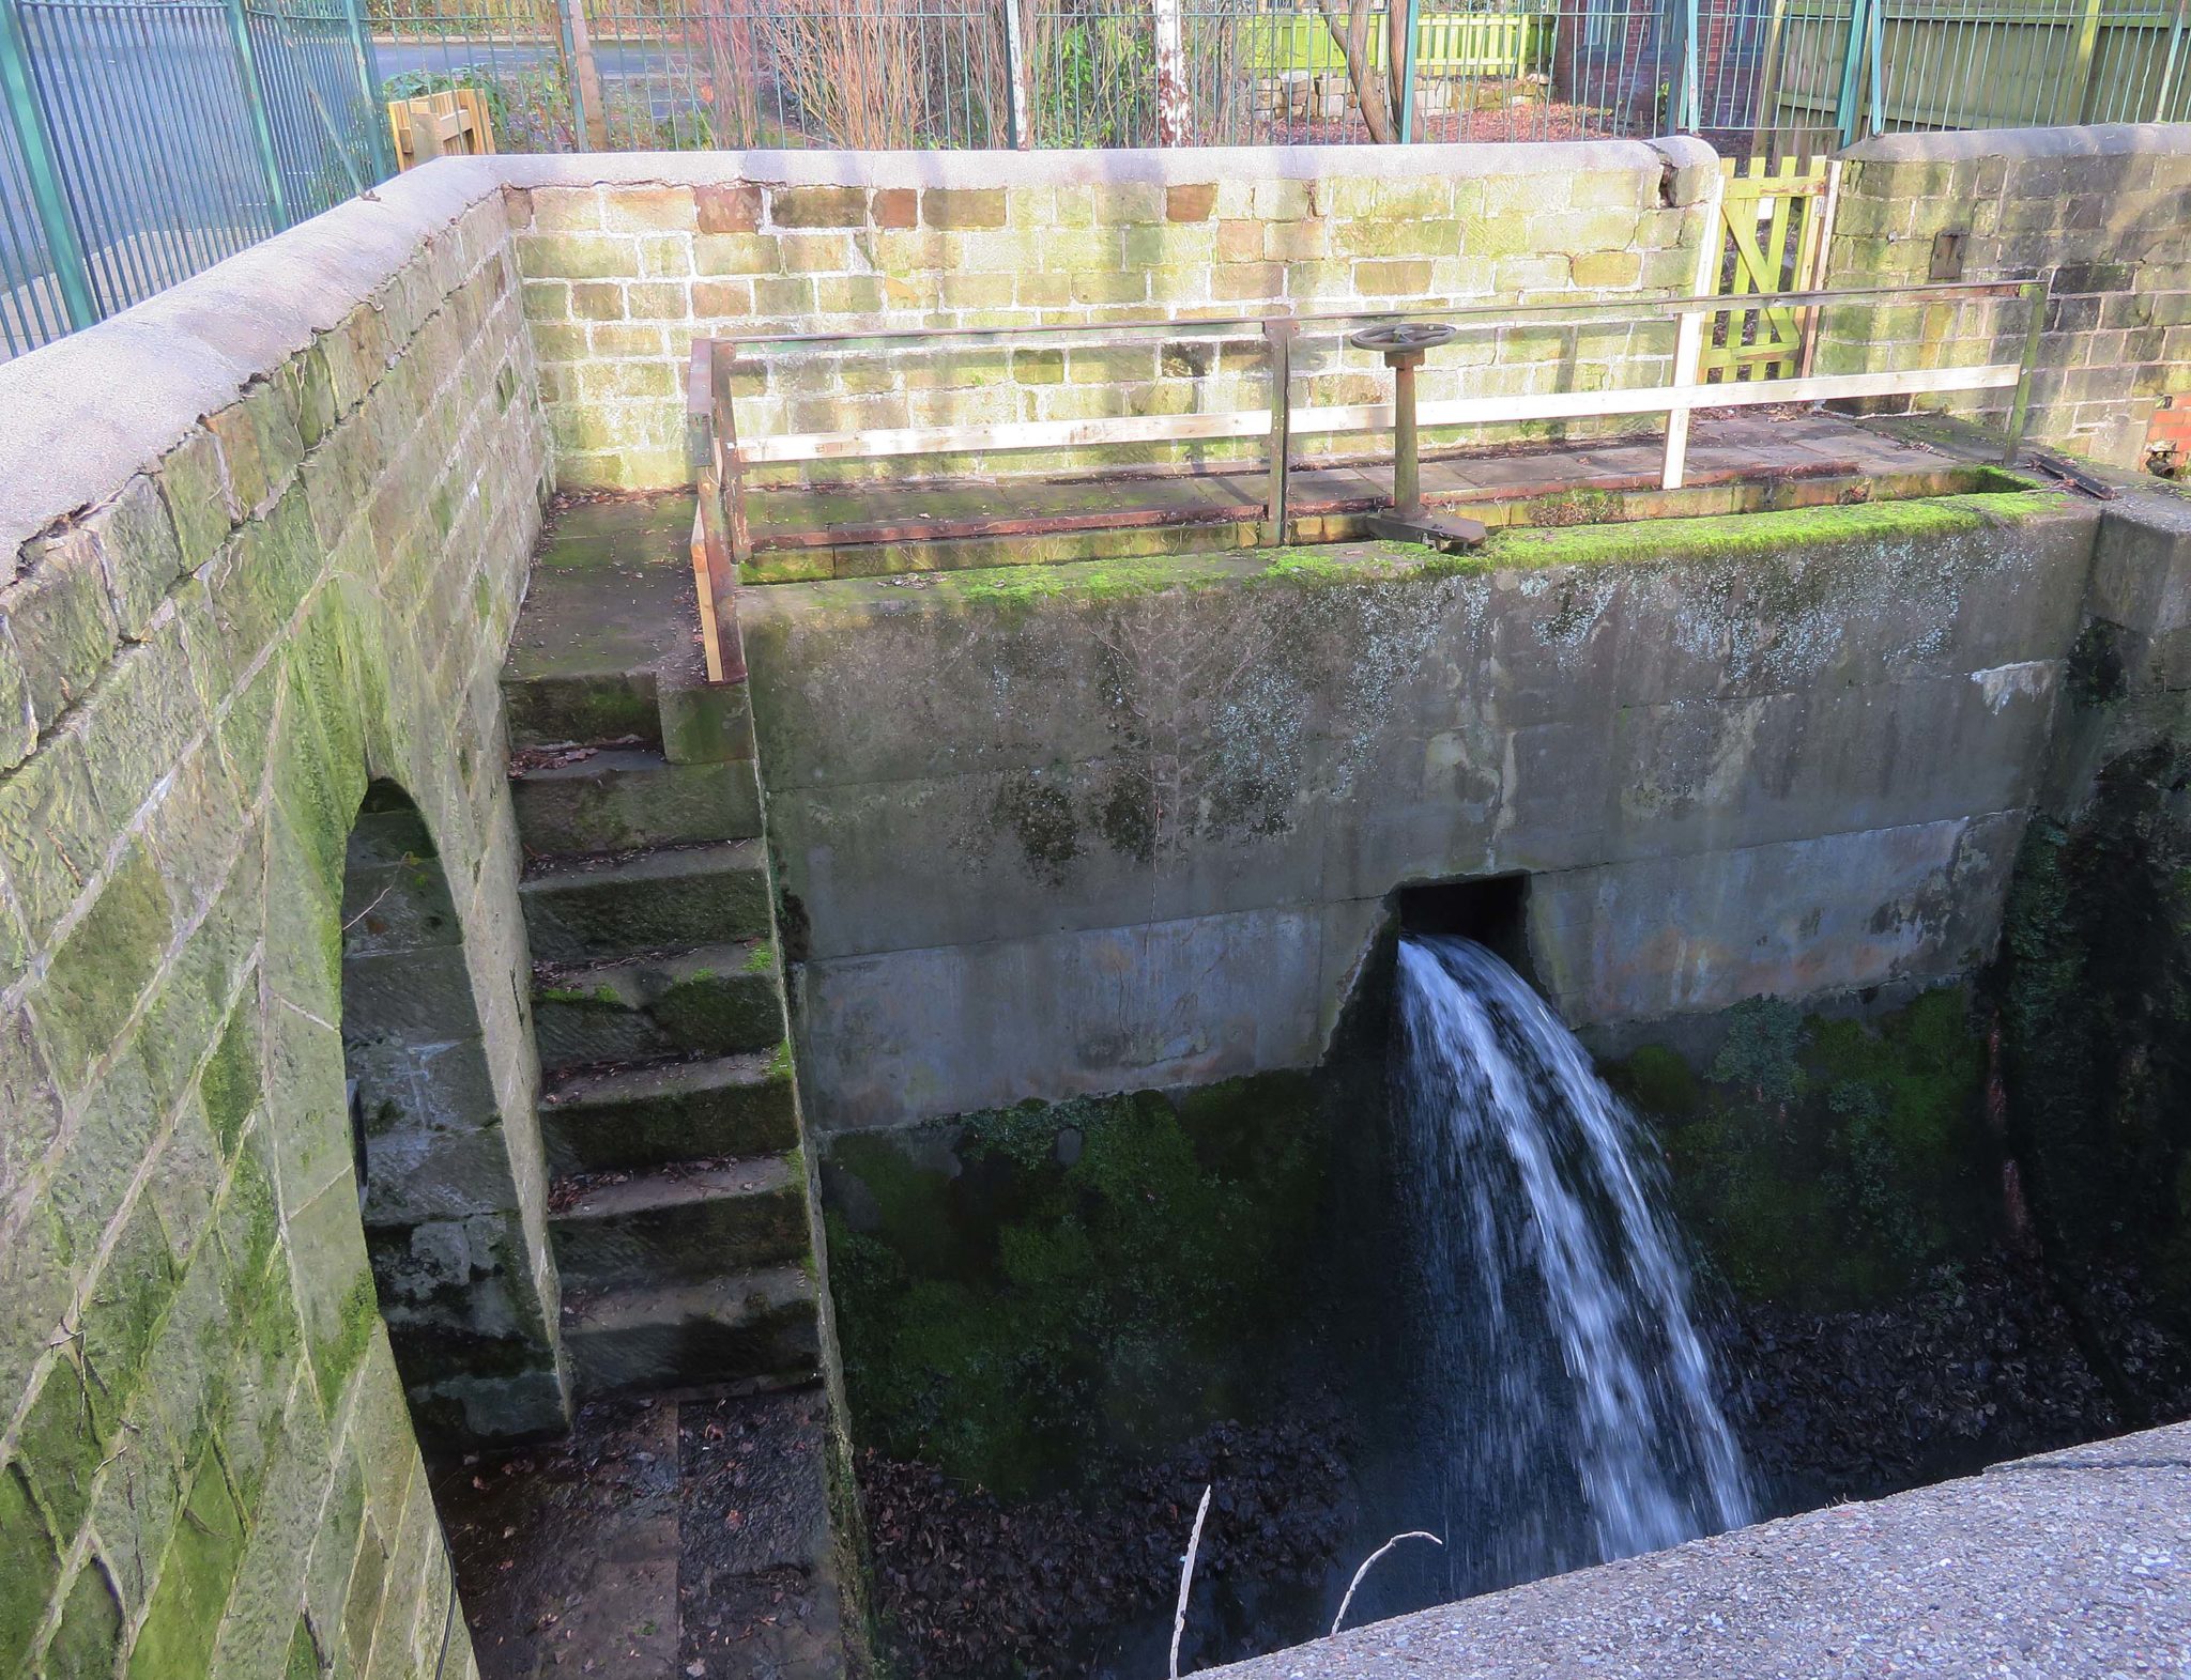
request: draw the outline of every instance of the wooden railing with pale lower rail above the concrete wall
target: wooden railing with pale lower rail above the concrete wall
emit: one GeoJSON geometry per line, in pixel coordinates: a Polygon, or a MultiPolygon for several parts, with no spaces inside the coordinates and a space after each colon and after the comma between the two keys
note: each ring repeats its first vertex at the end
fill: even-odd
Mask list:
{"type": "MultiPolygon", "coordinates": [[[[1343,436],[1383,431],[1393,425],[1391,403],[1347,403],[1295,407],[1293,353],[1304,335],[1330,331],[1343,337],[1350,324],[1378,320],[1439,320],[1464,331],[1507,326],[1602,326],[1619,320],[1672,320],[1674,353],[1670,379],[1661,386],[1621,390],[1551,390],[1521,396],[1453,396],[1418,405],[1422,427],[1514,425],[1525,421],[1582,421],[1606,416],[1665,414],[1661,488],[1678,491],[1687,471],[1689,416],[1698,410],[1757,407],[1770,403],[1838,403],[1882,396],[2014,390],[2003,460],[2016,460],[2031,396],[2031,368],[2046,313],[2044,280],[1981,280],[1913,287],[1860,287],[1845,291],[1788,291],[1777,307],[1812,318],[1827,309],[1865,304],[1941,304],[1981,298],[2022,298],[2029,324],[2016,361],[1968,368],[1908,368],[1882,372],[1808,372],[1788,379],[1705,381],[1705,340],[1713,315],[1757,307],[1757,298],[1652,298],[1608,302],[1588,298],[1551,304],[1477,304],[1466,309],[1352,309],[1319,315],[1240,315],[1229,320],[1148,320],[1102,326],[968,326],[881,333],[769,333],[747,340],[701,340],[692,346],[688,381],[688,449],[699,488],[692,528],[692,565],[699,585],[701,633],[708,675],[738,681],[745,675],[736,648],[734,587],[738,567],[752,554],[745,519],[745,471],[765,464],[830,460],[887,460],[905,456],[986,456],[1025,449],[1100,449],[1106,445],[1207,442],[1218,438],[1269,438],[1262,539],[1286,541],[1288,473],[1293,440],[1299,436],[1343,436]],[[1220,410],[1212,414],[1148,414],[1093,421],[1010,421],[997,425],[879,427],[863,431],[793,431],[741,440],[732,403],[732,372],[743,357],[771,348],[824,348],[876,353],[905,348],[988,348],[1067,340],[1087,348],[1159,337],[1163,342],[1223,333],[1260,333],[1271,390],[1284,394],[1271,407],[1220,410]]],[[[1437,353],[1426,366],[1435,368],[1437,353]]]]}

